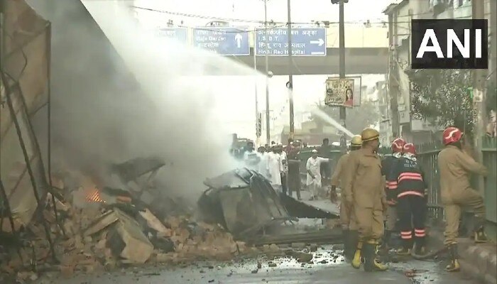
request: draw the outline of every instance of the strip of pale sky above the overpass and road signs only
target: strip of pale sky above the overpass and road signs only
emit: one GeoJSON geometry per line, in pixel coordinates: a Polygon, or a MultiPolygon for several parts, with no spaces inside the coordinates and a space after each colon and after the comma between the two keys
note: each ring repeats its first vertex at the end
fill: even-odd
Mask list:
{"type": "MultiPolygon", "coordinates": [[[[385,19],[382,11],[395,2],[393,0],[350,0],[345,6],[345,21],[378,21],[385,19]]],[[[159,9],[175,13],[188,13],[219,18],[264,21],[263,0],[136,0],[136,6],[159,9]]],[[[338,21],[338,5],[329,0],[291,0],[292,21],[338,21]]],[[[287,21],[287,1],[268,0],[268,20],[287,21]]],[[[205,19],[174,16],[164,13],[160,16],[167,22],[183,21],[186,25],[197,26],[206,23],[205,19]]]]}

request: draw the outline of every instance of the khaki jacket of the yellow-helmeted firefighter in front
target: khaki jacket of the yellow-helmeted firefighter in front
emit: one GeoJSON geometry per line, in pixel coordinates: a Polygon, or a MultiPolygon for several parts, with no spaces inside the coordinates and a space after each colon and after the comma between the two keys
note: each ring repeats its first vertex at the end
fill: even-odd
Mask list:
{"type": "Polygon", "coordinates": [[[344,175],[347,202],[363,208],[381,208],[385,195],[381,160],[376,153],[359,149],[349,153],[344,175]]]}

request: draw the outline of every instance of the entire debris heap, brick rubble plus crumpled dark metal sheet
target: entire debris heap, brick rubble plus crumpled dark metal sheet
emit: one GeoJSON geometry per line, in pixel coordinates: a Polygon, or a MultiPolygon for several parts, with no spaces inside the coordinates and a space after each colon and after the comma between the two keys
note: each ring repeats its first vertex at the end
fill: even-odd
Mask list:
{"type": "MultiPolygon", "coordinates": [[[[165,187],[155,180],[163,165],[156,158],[111,165],[109,173],[119,180],[119,188],[114,182],[108,182],[114,185],[109,187],[107,182],[80,174],[54,174],[53,190],[40,205],[37,218],[16,231],[18,236],[11,236],[11,243],[0,234],[0,283],[7,277],[21,283],[35,280],[44,272],[69,278],[74,273],[123,266],[231,261],[261,253],[283,253],[303,263],[312,258],[309,253],[285,253],[276,245],[308,239],[307,233],[283,239],[266,236],[268,229],[295,220],[285,204],[290,208],[304,205],[283,204],[257,173],[239,169],[206,180],[209,189],[198,200],[195,212],[199,218],[194,218],[193,209],[163,195],[165,187]],[[262,243],[254,241],[264,237],[262,243]]],[[[319,209],[302,208],[312,217],[329,217],[319,209]]],[[[328,232],[322,234],[327,240],[335,238],[328,232]]]]}

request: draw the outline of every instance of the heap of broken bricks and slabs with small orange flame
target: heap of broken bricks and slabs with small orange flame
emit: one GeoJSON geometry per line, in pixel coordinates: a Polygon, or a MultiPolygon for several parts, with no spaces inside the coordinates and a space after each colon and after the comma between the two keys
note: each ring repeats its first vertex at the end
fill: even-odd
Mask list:
{"type": "MultiPolygon", "coordinates": [[[[5,245],[0,240],[0,253],[5,252],[0,254],[0,283],[2,278],[17,278],[21,283],[35,280],[47,271],[69,278],[74,273],[112,271],[143,263],[223,261],[253,251],[244,242],[234,241],[222,226],[195,222],[191,212],[171,214],[175,210],[165,210],[164,202],[159,202],[160,207],[147,207],[136,199],[141,192],[95,186],[70,190],[65,183],[74,181],[53,180],[58,189],[54,192],[58,218],[49,194],[38,219],[19,231],[22,238],[18,244],[5,245]],[[50,253],[44,224],[48,225],[56,259],[50,253]]],[[[148,194],[153,195],[153,190],[148,194]]]]}

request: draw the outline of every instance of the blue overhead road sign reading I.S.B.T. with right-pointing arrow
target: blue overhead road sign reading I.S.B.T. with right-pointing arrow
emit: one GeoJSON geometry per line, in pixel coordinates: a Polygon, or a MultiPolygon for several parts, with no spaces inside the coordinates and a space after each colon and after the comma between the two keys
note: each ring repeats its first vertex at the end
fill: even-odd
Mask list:
{"type": "MultiPolygon", "coordinates": [[[[256,33],[256,54],[266,55],[266,32],[256,33]]],[[[288,29],[268,30],[268,55],[288,55],[288,29]]],[[[326,28],[292,28],[292,55],[325,56],[326,28]]]]}

